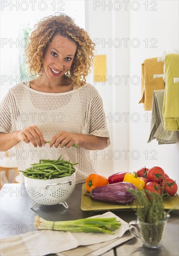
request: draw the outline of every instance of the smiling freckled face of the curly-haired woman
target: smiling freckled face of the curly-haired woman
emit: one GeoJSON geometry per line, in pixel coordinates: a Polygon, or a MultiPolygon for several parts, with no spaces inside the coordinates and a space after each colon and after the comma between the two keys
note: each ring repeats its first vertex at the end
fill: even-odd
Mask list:
{"type": "Polygon", "coordinates": [[[70,69],[77,44],[61,35],[54,36],[45,50],[42,74],[50,80],[60,81],[70,69]]]}

